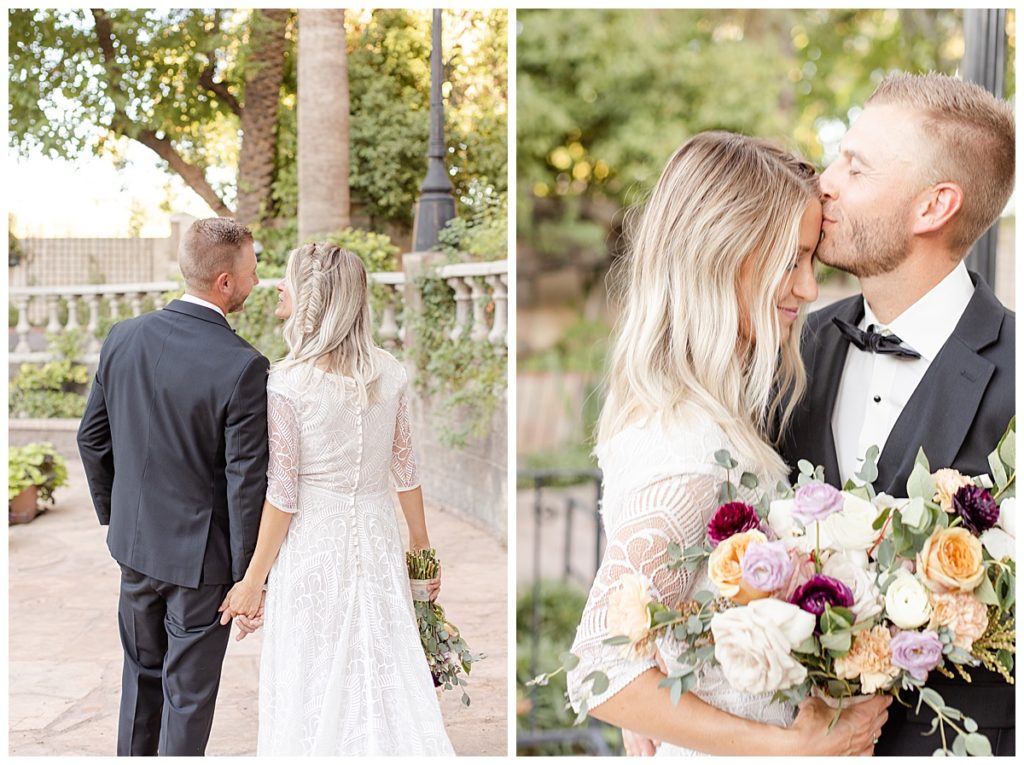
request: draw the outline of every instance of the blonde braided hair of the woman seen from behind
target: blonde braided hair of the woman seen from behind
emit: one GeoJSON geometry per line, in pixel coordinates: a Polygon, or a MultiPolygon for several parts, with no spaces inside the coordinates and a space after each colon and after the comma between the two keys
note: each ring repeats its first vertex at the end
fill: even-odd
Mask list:
{"type": "Polygon", "coordinates": [[[382,351],[374,344],[367,269],[337,245],[303,245],[288,256],[285,284],[292,314],[285,321],[288,354],[278,369],[319,362],[350,377],[364,406],[374,400],[382,351]]]}

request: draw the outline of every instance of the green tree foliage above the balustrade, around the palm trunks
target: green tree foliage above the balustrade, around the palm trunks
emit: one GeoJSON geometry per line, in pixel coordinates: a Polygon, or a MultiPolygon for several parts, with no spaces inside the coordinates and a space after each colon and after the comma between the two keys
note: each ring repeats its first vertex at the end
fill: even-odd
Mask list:
{"type": "MultiPolygon", "coordinates": [[[[245,84],[262,71],[254,41],[267,22],[259,13],[11,10],[11,146],[73,159],[116,152],[122,137],[138,140],[228,214],[245,151],[245,84]]],[[[507,15],[443,14],[449,167],[463,212],[507,190],[507,15]]],[[[352,199],[375,229],[409,225],[426,172],[430,13],[346,13],[346,26],[352,199]]],[[[273,140],[258,141],[273,157],[263,208],[271,225],[295,217],[298,194],[294,18],[284,34],[273,140]]]]}

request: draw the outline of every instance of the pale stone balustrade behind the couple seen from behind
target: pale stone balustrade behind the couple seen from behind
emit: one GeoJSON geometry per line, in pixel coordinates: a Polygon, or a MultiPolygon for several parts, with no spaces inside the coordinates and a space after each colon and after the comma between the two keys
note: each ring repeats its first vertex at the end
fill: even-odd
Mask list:
{"type": "MultiPolygon", "coordinates": [[[[450,337],[486,342],[496,353],[507,354],[508,261],[445,265],[430,275],[443,280],[454,291],[456,320],[450,337]]],[[[419,304],[411,295],[416,287],[401,271],[371,273],[370,279],[384,288],[375,291],[378,336],[386,346],[399,346],[406,341],[407,311],[402,308],[410,302],[419,304]]],[[[256,289],[273,289],[279,282],[262,280],[256,289]]],[[[35,329],[36,335],[39,330],[47,334],[84,331],[88,340],[80,360],[95,362],[110,324],[160,309],[166,304],[168,293],[180,292],[181,285],[177,282],[11,288],[10,305],[17,318],[9,360],[43,363],[53,357],[49,348],[40,347],[38,339],[32,342],[35,329]],[[41,318],[45,318],[45,325],[41,318]]]]}

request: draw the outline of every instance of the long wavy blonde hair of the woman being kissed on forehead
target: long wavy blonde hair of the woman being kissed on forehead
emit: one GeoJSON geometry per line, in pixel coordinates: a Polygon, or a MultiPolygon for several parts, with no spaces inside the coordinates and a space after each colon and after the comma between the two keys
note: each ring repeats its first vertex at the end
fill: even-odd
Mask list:
{"type": "MultiPolygon", "coordinates": [[[[766,141],[706,132],[669,160],[611,274],[621,313],[598,443],[649,416],[678,419],[695,406],[769,475],[785,465],[771,426],[804,392],[804,311],[781,344],[776,293],[816,199],[813,166],[766,141]],[[751,274],[740,334],[740,269],[751,274]]],[[[629,226],[628,226],[629,227],[629,226]]]]}

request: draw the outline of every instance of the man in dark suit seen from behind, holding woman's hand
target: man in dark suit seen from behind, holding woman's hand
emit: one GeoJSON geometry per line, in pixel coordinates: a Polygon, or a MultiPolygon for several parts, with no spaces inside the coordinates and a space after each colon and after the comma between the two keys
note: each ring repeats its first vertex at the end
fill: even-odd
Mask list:
{"type": "Polygon", "coordinates": [[[197,220],[186,294],[111,330],[78,445],[121,566],[119,755],[202,755],[230,627],[217,608],[256,546],[267,359],[226,314],[259,279],[249,229],[197,220]]]}

